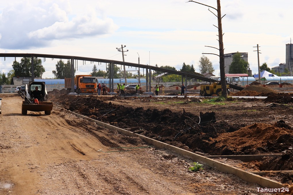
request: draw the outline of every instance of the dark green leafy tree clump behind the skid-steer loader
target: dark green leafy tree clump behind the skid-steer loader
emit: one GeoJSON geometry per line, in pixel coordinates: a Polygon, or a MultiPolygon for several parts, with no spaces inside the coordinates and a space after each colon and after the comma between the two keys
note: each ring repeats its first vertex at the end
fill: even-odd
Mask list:
{"type": "MultiPolygon", "coordinates": [[[[42,60],[34,57],[34,77],[41,77],[41,73],[45,72],[45,68],[42,66],[42,60]]],[[[14,61],[12,64],[14,75],[19,77],[31,77],[32,76],[32,63],[30,57],[21,58],[21,62],[14,61]]]]}

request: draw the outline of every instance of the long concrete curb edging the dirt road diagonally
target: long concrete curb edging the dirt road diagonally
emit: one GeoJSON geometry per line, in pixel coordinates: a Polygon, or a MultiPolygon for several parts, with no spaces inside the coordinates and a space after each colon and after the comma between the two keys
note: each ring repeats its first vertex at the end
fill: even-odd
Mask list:
{"type": "MultiPolygon", "coordinates": [[[[55,107],[60,108],[58,106],[55,106],[55,107]]],[[[64,108],[60,108],[60,109],[64,109],[64,108]]],[[[69,111],[69,112],[71,112],[71,111],[69,111]]],[[[256,175],[256,174],[241,170],[239,168],[236,168],[236,167],[233,167],[233,166],[230,166],[230,165],[227,165],[227,164],[212,160],[212,159],[207,158],[205,156],[198,155],[196,153],[193,153],[193,152],[178,148],[176,146],[165,144],[165,143],[163,143],[161,141],[157,141],[155,139],[151,139],[149,137],[145,137],[143,135],[139,135],[139,134],[136,134],[136,133],[121,129],[121,128],[115,127],[113,125],[110,125],[110,124],[107,124],[107,123],[104,123],[104,122],[100,122],[100,121],[94,120],[92,118],[88,118],[88,117],[86,117],[84,115],[80,115],[80,114],[75,113],[75,112],[71,112],[71,113],[76,115],[76,116],[78,116],[78,117],[80,117],[80,118],[88,120],[90,122],[95,122],[96,124],[98,124],[98,125],[100,125],[102,127],[106,127],[106,128],[108,128],[110,130],[118,131],[119,133],[124,134],[126,136],[139,137],[139,138],[143,139],[145,142],[147,142],[147,144],[149,144],[149,145],[155,146],[155,147],[160,148],[160,149],[170,150],[170,151],[172,151],[174,153],[177,153],[177,154],[180,154],[180,155],[184,156],[185,158],[190,158],[195,162],[199,162],[201,164],[208,165],[209,167],[217,169],[217,170],[219,170],[221,172],[231,173],[231,174],[233,174],[233,175],[235,175],[235,176],[237,176],[237,177],[241,178],[242,180],[247,181],[249,183],[256,183],[256,184],[259,184],[262,187],[267,187],[267,188],[288,187],[288,186],[283,185],[280,182],[270,180],[268,178],[261,177],[259,175],[256,175]]]]}

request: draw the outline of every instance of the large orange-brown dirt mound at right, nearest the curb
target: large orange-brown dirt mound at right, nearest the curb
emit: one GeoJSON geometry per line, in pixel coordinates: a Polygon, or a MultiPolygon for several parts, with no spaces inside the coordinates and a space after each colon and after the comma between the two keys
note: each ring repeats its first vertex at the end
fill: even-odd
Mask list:
{"type": "Polygon", "coordinates": [[[293,130],[284,121],[274,125],[255,123],[231,133],[223,133],[214,140],[215,153],[222,155],[281,152],[292,147],[293,130]],[[287,127],[287,128],[285,128],[287,127]]]}

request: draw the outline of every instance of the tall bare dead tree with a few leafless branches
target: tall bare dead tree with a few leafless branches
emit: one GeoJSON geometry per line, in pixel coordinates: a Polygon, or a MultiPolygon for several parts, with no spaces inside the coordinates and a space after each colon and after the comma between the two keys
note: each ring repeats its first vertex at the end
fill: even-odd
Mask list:
{"type": "MultiPolygon", "coordinates": [[[[222,18],[226,15],[221,15],[221,5],[220,5],[220,0],[217,0],[217,8],[214,8],[212,6],[208,6],[208,5],[205,5],[205,4],[202,4],[202,3],[199,3],[199,2],[195,2],[193,0],[191,1],[188,1],[188,2],[193,2],[193,3],[197,3],[197,4],[200,4],[200,5],[204,5],[204,6],[207,6],[209,8],[213,8],[214,10],[217,11],[217,15],[214,14],[211,10],[208,10],[210,12],[212,12],[217,18],[218,18],[218,26],[215,26],[217,27],[218,29],[218,37],[219,39],[218,42],[219,42],[219,49],[218,48],[215,48],[215,47],[212,47],[212,48],[215,48],[215,49],[218,49],[219,50],[219,55],[218,54],[214,54],[214,55],[217,55],[219,56],[220,58],[220,77],[221,77],[221,81],[226,81],[226,77],[225,77],[225,62],[224,62],[224,44],[223,44],[223,30],[222,30],[222,18]]],[[[211,46],[208,46],[208,47],[211,47],[211,46]]],[[[202,54],[211,54],[211,53],[202,53],[202,54]]],[[[226,85],[226,82],[221,82],[221,85],[222,85],[222,96],[224,97],[227,97],[227,85],[226,85]]]]}

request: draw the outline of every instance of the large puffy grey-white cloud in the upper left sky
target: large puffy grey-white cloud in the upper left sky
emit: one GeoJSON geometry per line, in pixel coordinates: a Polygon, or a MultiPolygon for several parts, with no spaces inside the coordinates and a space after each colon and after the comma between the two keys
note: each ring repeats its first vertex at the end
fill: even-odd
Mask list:
{"type": "Polygon", "coordinates": [[[1,13],[1,48],[45,47],[53,39],[97,36],[117,29],[112,19],[98,18],[94,12],[69,15],[64,8],[67,5],[64,1],[19,1],[7,5],[1,13]]]}

